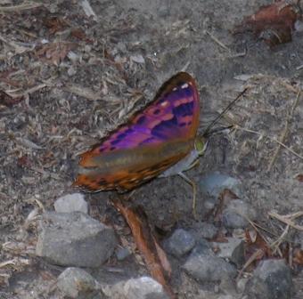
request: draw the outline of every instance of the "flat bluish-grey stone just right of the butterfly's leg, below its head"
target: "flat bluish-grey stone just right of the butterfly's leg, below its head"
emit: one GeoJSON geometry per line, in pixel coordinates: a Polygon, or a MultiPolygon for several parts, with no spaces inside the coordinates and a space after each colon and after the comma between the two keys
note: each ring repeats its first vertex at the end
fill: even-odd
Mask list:
{"type": "Polygon", "coordinates": [[[204,176],[200,182],[201,191],[207,195],[217,198],[220,193],[229,189],[238,196],[242,194],[242,182],[225,174],[209,174],[204,176]]]}

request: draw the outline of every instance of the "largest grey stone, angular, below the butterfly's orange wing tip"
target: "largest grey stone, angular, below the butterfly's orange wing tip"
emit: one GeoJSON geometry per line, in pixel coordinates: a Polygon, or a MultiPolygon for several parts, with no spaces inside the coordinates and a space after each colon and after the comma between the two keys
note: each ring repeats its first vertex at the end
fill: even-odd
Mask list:
{"type": "Polygon", "coordinates": [[[43,214],[36,253],[62,266],[100,267],[117,245],[114,231],[80,212],[43,214]]]}

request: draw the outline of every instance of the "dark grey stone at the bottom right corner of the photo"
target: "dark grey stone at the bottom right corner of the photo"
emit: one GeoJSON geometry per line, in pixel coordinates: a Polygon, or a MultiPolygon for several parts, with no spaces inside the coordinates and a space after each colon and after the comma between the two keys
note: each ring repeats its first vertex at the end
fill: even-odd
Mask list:
{"type": "Polygon", "coordinates": [[[291,269],[283,260],[266,260],[258,264],[245,286],[248,299],[291,299],[291,269]]]}

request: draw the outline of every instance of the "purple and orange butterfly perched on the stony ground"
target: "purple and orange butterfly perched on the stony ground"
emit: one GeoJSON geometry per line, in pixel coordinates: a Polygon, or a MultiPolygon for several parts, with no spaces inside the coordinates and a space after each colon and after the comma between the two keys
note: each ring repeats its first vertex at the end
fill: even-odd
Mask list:
{"type": "Polygon", "coordinates": [[[86,190],[134,190],[157,176],[180,175],[205,150],[197,136],[200,116],[195,80],[179,72],[164,83],[151,103],[101,142],[80,155],[75,186],[86,190]]]}

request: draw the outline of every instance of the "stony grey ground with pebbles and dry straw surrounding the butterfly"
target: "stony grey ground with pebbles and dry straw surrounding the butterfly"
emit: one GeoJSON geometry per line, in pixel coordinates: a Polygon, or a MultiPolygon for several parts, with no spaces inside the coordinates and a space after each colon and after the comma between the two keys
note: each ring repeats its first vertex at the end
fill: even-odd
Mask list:
{"type": "Polygon", "coordinates": [[[1,2],[0,298],[169,298],[116,193],[71,184],[78,155],[181,70],[199,87],[200,133],[248,89],[217,124],[233,131],[211,136],[187,172],[197,220],[180,177],[131,196],[168,255],[169,285],[187,299],[302,298],[303,29],[274,47],[234,34],[265,4],[1,2]]]}

